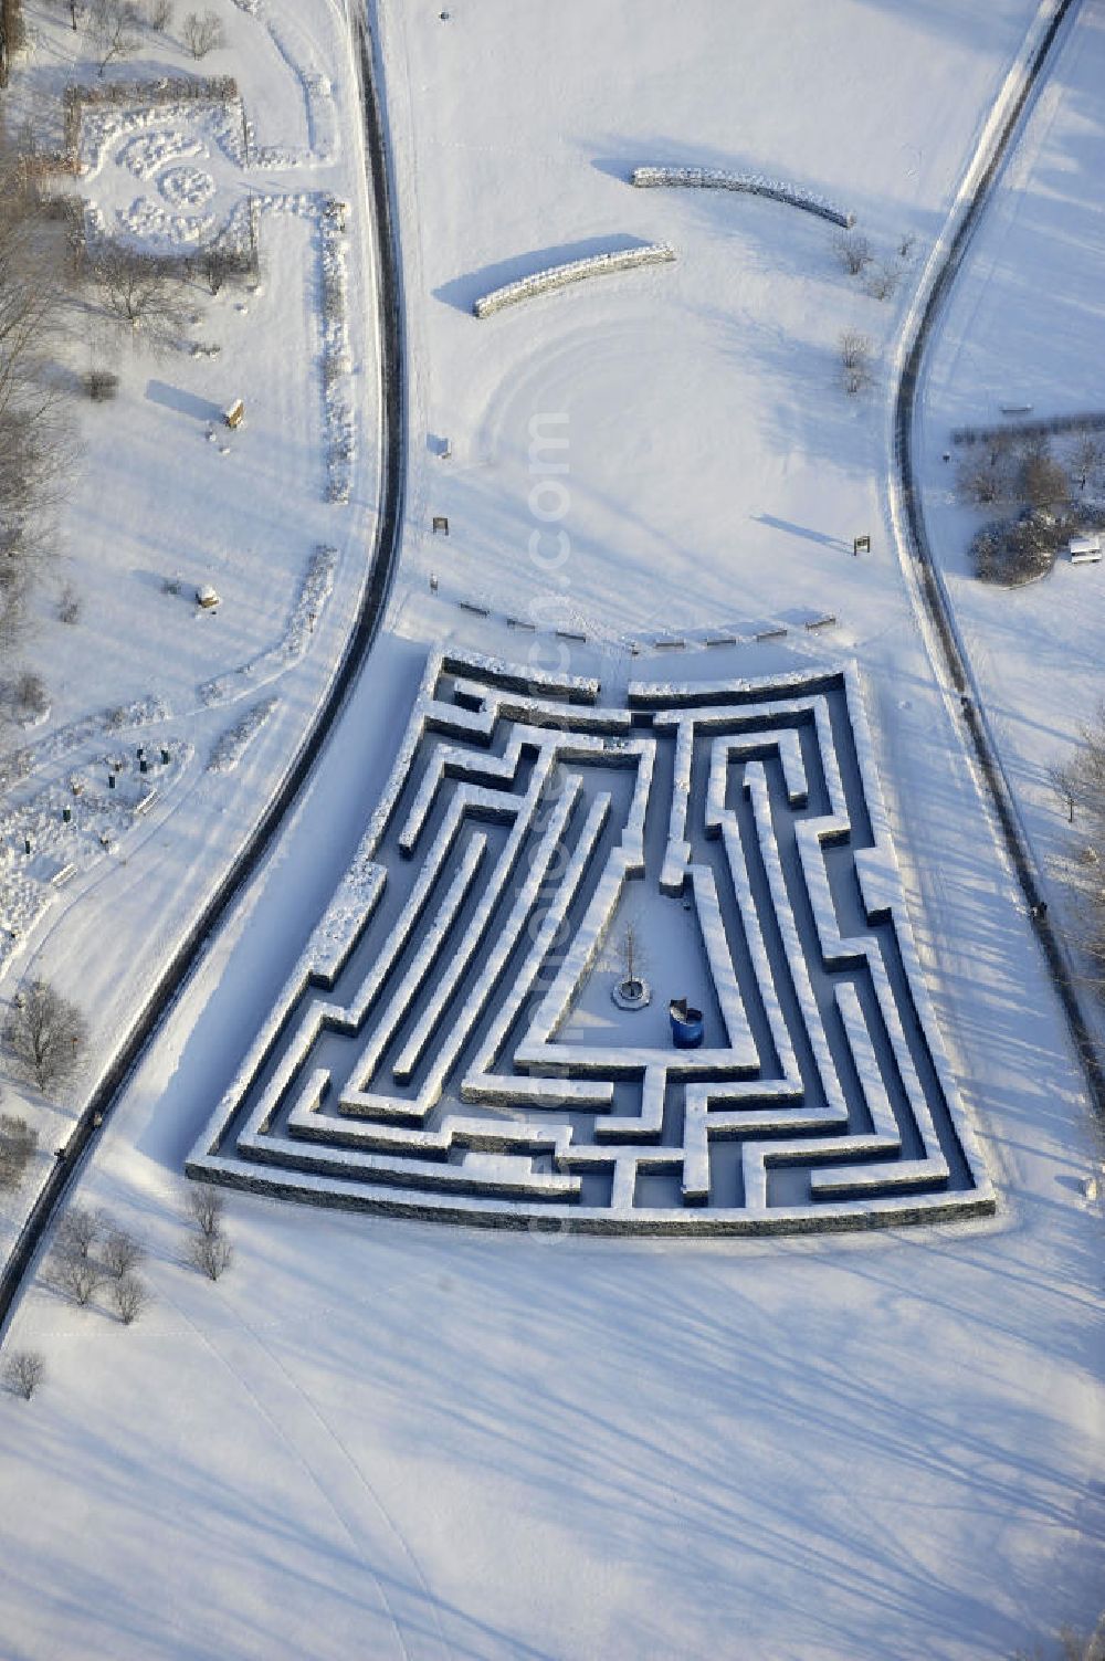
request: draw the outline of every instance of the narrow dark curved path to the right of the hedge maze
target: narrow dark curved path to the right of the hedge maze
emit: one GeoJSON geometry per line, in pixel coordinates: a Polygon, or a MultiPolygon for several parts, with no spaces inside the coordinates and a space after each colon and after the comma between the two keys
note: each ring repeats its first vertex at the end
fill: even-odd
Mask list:
{"type": "Polygon", "coordinates": [[[917,390],[921,385],[921,369],[924,362],[924,354],[927,350],[934,324],[940,312],[940,307],[947,301],[952,284],[959,274],[964,256],[970,244],[970,238],[982,219],[987,208],[990,193],[997,181],[1000,166],[1009,153],[1020,118],[1025,111],[1029,98],[1035,91],[1037,81],[1047,66],[1047,60],[1052,55],[1052,48],[1058,37],[1062,25],[1065,23],[1070,12],[1078,5],[1078,0],[1060,0],[1055,15],[1052,17],[1044,37],[1032,55],[1027,66],[1024,83],[1012,100],[1009,115],[997,133],[990,156],[982,169],[979,183],[970,194],[967,208],[962,219],[952,236],[947,254],[939,266],[929,294],[924,301],[924,309],[921,314],[921,322],[917,324],[917,332],[912,344],[906,354],[902,365],[902,374],[897,385],[897,394],[894,400],[894,462],[899,470],[902,508],[906,518],[906,528],[909,533],[909,551],[912,555],[916,571],[921,581],[921,596],[924,600],[926,610],[936,628],[937,639],[940,643],[940,651],[944,656],[944,668],[960,698],[960,708],[964,723],[967,728],[970,747],[979,762],[982,779],[989,791],[994,811],[997,814],[997,822],[1000,826],[1002,839],[1009,852],[1014,872],[1020,882],[1024,892],[1029,915],[1035,928],[1037,940],[1047,960],[1047,968],[1052,977],[1055,992],[1063,1007],[1067,1017],[1067,1025],[1070,1028],[1070,1036],[1073,1040],[1075,1051],[1085,1071],[1087,1086],[1090,1090],[1090,1098],[1098,1118],[1105,1118],[1105,1070],[1102,1068],[1102,1058],[1097,1051],[1093,1035],[1082,1012],[1078,1000],[1077,985],[1070,970],[1070,963],[1062,948],[1057,930],[1053,928],[1047,910],[1040,910],[1042,892],[1037,880],[1035,862],[1029,847],[1029,839],[1020,826],[1017,807],[1014,802],[1012,791],[1009,787],[1009,779],[1005,769],[997,754],[997,747],[990,739],[987,723],[980,713],[980,701],[977,694],[977,684],[974,671],[970,668],[970,659],[960,639],[952,605],[944,585],[940,570],[932,558],[932,548],[929,545],[929,533],[924,522],[924,510],[921,505],[921,495],[914,483],[914,465],[912,465],[912,439],[914,439],[914,415],[917,405],[917,390]]]}

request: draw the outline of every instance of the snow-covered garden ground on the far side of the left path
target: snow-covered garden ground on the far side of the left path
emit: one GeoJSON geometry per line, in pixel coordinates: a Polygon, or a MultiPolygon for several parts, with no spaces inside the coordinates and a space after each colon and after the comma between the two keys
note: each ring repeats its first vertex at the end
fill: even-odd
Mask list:
{"type": "MultiPolygon", "coordinates": [[[[70,1100],[113,1053],[294,756],[356,616],[374,527],[371,226],[344,18],[324,3],[284,17],[229,0],[219,17],[228,45],[201,65],[173,32],[143,30],[140,55],[113,73],[231,71],[239,103],[224,113],[135,98],[86,113],[85,171],[58,178],[106,231],[151,252],[194,246],[208,219],[223,223],[253,198],[261,272],[218,297],[198,274],[184,299],[193,324],[163,352],[141,332],[131,347],[95,304],[75,304],[73,387],[110,367],[120,389],[106,404],[68,400],[81,453],[58,517],[60,558],[20,653],[47,681],[50,716],[20,737],[27,777],[0,802],[0,985],[10,995],[22,977],[45,975],[93,1030],[88,1068],[61,1110],[23,1095],[40,1169],[71,1121],[70,1100]],[[203,201],[181,199],[183,166],[206,179],[203,201]],[[344,233],[334,199],[351,204],[344,233]],[[327,262],[349,266],[334,279],[341,317],[322,316],[327,262]],[[324,357],[334,359],[326,377],[324,357]],[[238,397],[246,424],[231,432],[223,410],[238,397]],[[344,432],[356,473],[342,463],[336,475],[344,432]],[[327,500],[336,477],[347,500],[327,500]],[[196,606],[203,583],[221,596],[216,611],[196,606]],[[66,586],[80,603],[75,625],[58,616],[66,586]],[[111,761],[125,764],[115,791],[111,761]],[[151,787],[156,802],[135,817],[151,787]]],[[[63,8],[32,7],[28,23],[30,58],[7,106],[15,123],[38,120],[45,148],[60,143],[63,85],[83,76],[95,86],[96,75],[73,61],[85,35],[63,8]]],[[[32,1193],[28,1179],[3,1196],[5,1239],[32,1193]]]]}

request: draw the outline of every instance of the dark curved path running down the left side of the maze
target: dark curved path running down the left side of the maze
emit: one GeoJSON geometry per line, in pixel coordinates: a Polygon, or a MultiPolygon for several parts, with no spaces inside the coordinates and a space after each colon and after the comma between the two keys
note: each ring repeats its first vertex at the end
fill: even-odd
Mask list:
{"type": "Polygon", "coordinates": [[[199,960],[209,935],[219,927],[229,907],[234,904],[249,879],[256,874],[261,862],[269,854],[281,827],[296,807],[314,762],[342,713],[349,689],[366,664],[384,616],[392,578],[399,563],[407,478],[407,372],[399,233],[392,206],[394,179],[390,174],[384,131],[384,108],[379,93],[379,65],[374,63],[372,43],[367,35],[366,18],[357,8],[357,0],[347,0],[347,3],[354,7],[354,15],[349,18],[349,28],[352,33],[351,50],[357,63],[361,105],[364,110],[364,135],[369,164],[366,194],[369,196],[369,204],[376,221],[376,292],[381,336],[382,488],[369,578],[361,600],[357,621],[351,630],[342,659],[331,683],[331,689],[326,701],[319,706],[316,719],[306,733],[294,761],[271,796],[264,814],[253,830],[253,835],[244,844],[238,859],[223,877],[186,938],[178,947],[158,985],[146,1000],[138,1020],[131,1026],[126,1040],[108,1063],[96,1090],[88,1100],[88,1105],[76,1120],[65,1149],[58,1154],[53,1171],[43,1183],[43,1188],[18,1234],[8,1261],[0,1269],[0,1335],[3,1334],[7,1320],[17,1302],[23,1279],[33,1264],[38,1244],[53,1221],[53,1216],[71,1178],[76,1174],[85,1153],[95,1144],[100,1126],[110,1116],[111,1108],[123,1095],[131,1073],[145,1055],[148,1045],[156,1036],[161,1022],[168,1015],[184,982],[199,960]]]}

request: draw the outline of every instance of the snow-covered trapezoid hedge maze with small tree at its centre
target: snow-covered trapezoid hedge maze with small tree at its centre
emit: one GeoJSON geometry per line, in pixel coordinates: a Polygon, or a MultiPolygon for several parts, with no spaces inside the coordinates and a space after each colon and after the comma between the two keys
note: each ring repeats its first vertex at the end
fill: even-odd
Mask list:
{"type": "Polygon", "coordinates": [[[188,1171],[593,1232],[992,1211],[854,673],[631,684],[603,708],[595,681],[430,658],[357,857],[188,1171]],[[641,912],[660,1023],[607,997],[641,912]],[[701,1048],[668,1041],[673,997],[701,1007],[701,1048]]]}

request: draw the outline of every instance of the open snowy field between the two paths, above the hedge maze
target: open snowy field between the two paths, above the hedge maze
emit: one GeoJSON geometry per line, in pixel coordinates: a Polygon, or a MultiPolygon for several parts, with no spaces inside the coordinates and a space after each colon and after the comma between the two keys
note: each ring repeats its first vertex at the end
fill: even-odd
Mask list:
{"type": "Polygon", "coordinates": [[[788,608],[834,611],[849,641],[891,626],[879,399],[837,394],[837,341],[891,339],[1035,7],[568,0],[525,27],[508,3],[447,10],[382,8],[414,342],[407,580],[597,631],[788,608]],[[824,221],[633,189],[646,163],[818,191],[881,262],[912,238],[897,297],[844,276],[824,221]],[[636,241],[678,259],[472,316],[505,281],[636,241]],[[852,561],[866,532],[874,558],[852,561]]]}

